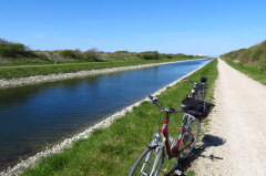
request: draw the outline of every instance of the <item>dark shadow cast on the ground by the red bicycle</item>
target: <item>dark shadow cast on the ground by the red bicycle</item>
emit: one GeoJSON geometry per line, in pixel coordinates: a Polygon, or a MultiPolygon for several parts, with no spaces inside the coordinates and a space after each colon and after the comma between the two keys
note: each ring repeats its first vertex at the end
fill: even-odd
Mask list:
{"type": "Polygon", "coordinates": [[[207,135],[204,135],[204,137],[202,138],[202,143],[203,143],[202,145],[193,149],[193,152],[187,158],[178,161],[178,165],[173,167],[173,169],[170,173],[167,173],[165,176],[175,176],[175,175],[185,176],[184,173],[192,166],[192,163],[198,157],[209,158],[212,161],[223,159],[222,157],[214,156],[214,155],[209,155],[209,156],[203,155],[203,152],[205,152],[209,147],[216,147],[225,144],[226,141],[224,138],[207,134],[207,135]]]}

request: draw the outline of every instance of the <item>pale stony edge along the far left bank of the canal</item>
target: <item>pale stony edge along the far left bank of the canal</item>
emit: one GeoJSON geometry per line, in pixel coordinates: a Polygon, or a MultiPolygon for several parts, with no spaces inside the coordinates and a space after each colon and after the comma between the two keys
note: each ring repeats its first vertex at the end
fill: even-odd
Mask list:
{"type": "MultiPolygon", "coordinates": [[[[200,60],[202,60],[202,59],[200,59],[200,60]]],[[[9,87],[17,87],[17,86],[24,86],[24,85],[42,84],[42,83],[47,83],[47,82],[55,82],[55,81],[62,81],[62,80],[85,77],[85,76],[90,76],[90,75],[121,72],[121,71],[126,71],[126,70],[143,69],[143,68],[156,66],[156,65],[162,65],[162,64],[187,62],[187,61],[195,61],[195,60],[130,65],[130,66],[120,66],[120,68],[109,68],[109,69],[100,69],[100,70],[79,71],[79,72],[74,72],[74,73],[34,75],[34,76],[28,76],[28,77],[10,79],[10,80],[2,79],[2,80],[0,80],[0,90],[9,89],[9,87]]]]}

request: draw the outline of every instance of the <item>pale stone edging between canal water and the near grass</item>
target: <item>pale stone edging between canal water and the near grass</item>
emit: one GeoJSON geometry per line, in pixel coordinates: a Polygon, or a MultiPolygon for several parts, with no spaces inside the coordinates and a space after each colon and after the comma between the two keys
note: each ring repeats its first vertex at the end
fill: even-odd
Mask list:
{"type": "MultiPolygon", "coordinates": [[[[212,61],[212,60],[211,60],[212,61]]],[[[208,61],[207,63],[209,63],[211,61],[208,61]]],[[[184,62],[184,61],[181,61],[184,62]]],[[[204,65],[206,65],[207,63],[205,63],[204,65]]],[[[163,64],[167,64],[167,63],[163,63],[163,64]]],[[[180,81],[182,81],[184,77],[190,76],[191,74],[193,74],[194,72],[196,72],[197,70],[202,69],[204,65],[202,65],[201,68],[192,71],[191,73],[182,76],[181,79],[172,82],[171,84],[164,86],[163,89],[156,91],[153,93],[154,96],[160,95],[161,93],[163,93],[164,91],[166,91],[167,87],[174,86],[175,84],[177,84],[180,81]]],[[[123,117],[126,113],[132,112],[133,107],[136,107],[139,105],[141,105],[141,103],[143,103],[144,101],[149,101],[147,97],[123,108],[122,111],[119,111],[116,113],[114,113],[113,115],[106,117],[105,120],[99,122],[98,124],[89,127],[88,130],[85,130],[82,133],[79,133],[76,135],[74,135],[71,138],[65,138],[62,143],[54,145],[51,148],[47,148],[45,151],[42,151],[40,153],[38,153],[34,156],[31,156],[29,158],[27,158],[25,161],[20,162],[19,164],[17,164],[13,167],[9,167],[7,170],[3,170],[0,173],[0,176],[17,176],[20,175],[24,169],[34,166],[38,161],[40,161],[42,157],[49,156],[51,154],[55,154],[55,153],[60,153],[61,151],[63,151],[64,148],[71,147],[71,145],[76,142],[78,139],[81,138],[88,138],[91,133],[96,130],[96,128],[105,128],[109,127],[115,120],[123,117]]]]}

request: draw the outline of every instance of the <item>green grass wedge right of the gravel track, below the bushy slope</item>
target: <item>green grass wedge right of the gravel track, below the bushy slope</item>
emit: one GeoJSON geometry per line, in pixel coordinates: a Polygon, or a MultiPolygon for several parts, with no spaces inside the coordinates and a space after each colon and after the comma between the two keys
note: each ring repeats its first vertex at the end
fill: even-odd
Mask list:
{"type": "Polygon", "coordinates": [[[224,61],[236,70],[266,85],[266,70],[262,70],[255,66],[246,66],[228,59],[225,59],[224,61]]]}

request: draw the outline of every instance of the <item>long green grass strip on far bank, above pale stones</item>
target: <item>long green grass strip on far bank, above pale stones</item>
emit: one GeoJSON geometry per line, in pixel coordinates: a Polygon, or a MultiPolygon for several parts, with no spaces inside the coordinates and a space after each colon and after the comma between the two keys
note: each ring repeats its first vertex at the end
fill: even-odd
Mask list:
{"type": "Polygon", "coordinates": [[[186,58],[178,59],[161,59],[161,60],[127,60],[127,61],[108,61],[108,62],[84,62],[71,64],[41,64],[25,68],[0,68],[0,79],[24,77],[31,75],[47,75],[52,73],[70,73],[83,70],[96,70],[105,68],[116,68],[126,65],[137,65],[146,63],[161,63],[183,61],[186,58]]]}

